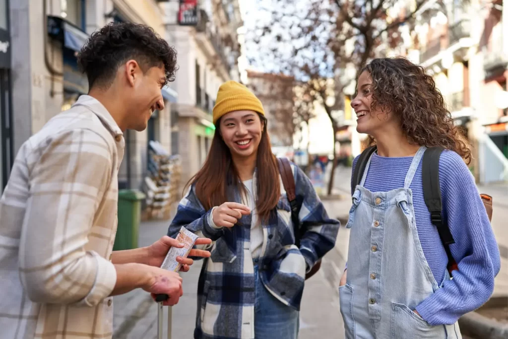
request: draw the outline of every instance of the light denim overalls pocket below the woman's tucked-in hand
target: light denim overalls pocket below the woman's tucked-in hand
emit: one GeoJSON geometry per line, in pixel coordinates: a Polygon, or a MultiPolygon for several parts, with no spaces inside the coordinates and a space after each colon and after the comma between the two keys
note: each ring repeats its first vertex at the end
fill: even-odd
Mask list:
{"type": "Polygon", "coordinates": [[[392,302],[392,339],[446,338],[443,325],[433,326],[404,304],[392,302]]]}

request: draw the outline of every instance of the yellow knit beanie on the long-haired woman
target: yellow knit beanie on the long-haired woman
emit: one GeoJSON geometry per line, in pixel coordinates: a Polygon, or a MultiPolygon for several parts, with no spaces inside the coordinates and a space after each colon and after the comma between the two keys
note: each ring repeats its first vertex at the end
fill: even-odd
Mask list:
{"type": "Polygon", "coordinates": [[[213,124],[224,114],[242,110],[265,115],[263,104],[247,87],[233,80],[220,85],[213,107],[213,124]]]}

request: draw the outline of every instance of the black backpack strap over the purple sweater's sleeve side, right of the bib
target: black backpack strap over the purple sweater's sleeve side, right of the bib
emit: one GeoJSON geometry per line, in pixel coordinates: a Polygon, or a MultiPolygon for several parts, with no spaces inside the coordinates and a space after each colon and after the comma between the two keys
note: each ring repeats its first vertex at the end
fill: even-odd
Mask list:
{"type": "Polygon", "coordinates": [[[455,260],[450,252],[450,244],[455,243],[448,223],[442,218],[441,189],[439,187],[439,157],[442,147],[430,147],[423,154],[422,184],[423,198],[430,212],[430,220],[437,228],[439,238],[448,256],[448,264],[453,265],[455,260]]]}

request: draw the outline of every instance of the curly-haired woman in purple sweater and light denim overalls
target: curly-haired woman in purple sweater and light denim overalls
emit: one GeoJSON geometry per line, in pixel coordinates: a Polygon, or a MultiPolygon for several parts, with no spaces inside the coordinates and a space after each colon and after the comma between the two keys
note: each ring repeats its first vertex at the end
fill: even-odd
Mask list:
{"type": "Polygon", "coordinates": [[[351,105],[358,132],[377,150],[352,187],[339,287],[346,337],[460,338],[457,319],[490,297],[500,267],[464,138],[432,77],[404,58],[372,60],[351,105]],[[455,239],[453,279],[423,196],[422,155],[432,146],[444,148],[439,180],[443,218],[455,239]]]}

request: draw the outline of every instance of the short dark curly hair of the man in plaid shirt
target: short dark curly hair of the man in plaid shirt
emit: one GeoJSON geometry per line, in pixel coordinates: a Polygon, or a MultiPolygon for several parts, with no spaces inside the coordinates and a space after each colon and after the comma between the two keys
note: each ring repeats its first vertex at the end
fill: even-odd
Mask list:
{"type": "Polygon", "coordinates": [[[164,65],[167,81],[175,79],[176,50],[146,25],[110,23],[93,32],[78,55],[88,85],[109,86],[118,67],[134,59],[143,71],[164,65]]]}

